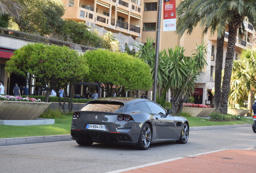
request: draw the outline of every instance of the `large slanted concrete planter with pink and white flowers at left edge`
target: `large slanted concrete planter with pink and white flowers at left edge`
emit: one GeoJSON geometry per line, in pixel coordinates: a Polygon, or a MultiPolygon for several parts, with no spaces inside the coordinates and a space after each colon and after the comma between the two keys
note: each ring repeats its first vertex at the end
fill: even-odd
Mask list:
{"type": "Polygon", "coordinates": [[[0,120],[35,120],[51,103],[0,101],[0,120]]]}

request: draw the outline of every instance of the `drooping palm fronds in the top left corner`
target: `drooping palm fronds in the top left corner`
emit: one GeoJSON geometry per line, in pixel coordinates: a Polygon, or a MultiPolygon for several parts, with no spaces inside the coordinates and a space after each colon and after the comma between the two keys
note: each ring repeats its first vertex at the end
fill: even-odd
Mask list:
{"type": "Polygon", "coordinates": [[[24,6],[23,0],[0,0],[0,14],[8,14],[19,20],[19,12],[24,6]]]}

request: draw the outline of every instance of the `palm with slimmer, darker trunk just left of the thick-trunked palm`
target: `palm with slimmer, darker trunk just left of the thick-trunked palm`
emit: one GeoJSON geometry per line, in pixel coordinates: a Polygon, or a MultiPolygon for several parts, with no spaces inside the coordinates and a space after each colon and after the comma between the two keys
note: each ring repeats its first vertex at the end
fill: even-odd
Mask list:
{"type": "MultiPolygon", "coordinates": [[[[177,7],[177,30],[176,32],[180,35],[180,37],[184,34],[186,30],[187,34],[192,34],[194,27],[197,26],[199,22],[201,22],[201,26],[204,27],[203,34],[207,34],[208,30],[211,30],[211,34],[217,30],[218,20],[214,16],[214,13],[209,11],[204,11],[202,13],[201,10],[194,9],[197,5],[197,0],[185,0],[180,3],[177,7]],[[212,20],[210,21],[209,18],[212,20]]],[[[209,5],[209,4],[208,4],[209,5]]],[[[207,7],[208,8],[208,7],[207,7]]],[[[215,59],[215,93],[214,93],[214,107],[219,107],[219,101],[221,97],[221,71],[223,64],[223,45],[224,45],[224,35],[225,30],[221,30],[217,34],[217,53],[215,59]]]]}

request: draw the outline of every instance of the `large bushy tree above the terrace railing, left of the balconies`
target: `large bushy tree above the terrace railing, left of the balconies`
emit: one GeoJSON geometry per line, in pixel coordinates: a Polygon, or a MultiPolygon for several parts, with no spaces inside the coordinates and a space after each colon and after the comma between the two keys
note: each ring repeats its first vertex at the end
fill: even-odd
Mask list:
{"type": "Polygon", "coordinates": [[[21,31],[45,36],[62,27],[65,7],[61,0],[23,1],[27,8],[20,12],[20,20],[16,21],[21,31]]]}

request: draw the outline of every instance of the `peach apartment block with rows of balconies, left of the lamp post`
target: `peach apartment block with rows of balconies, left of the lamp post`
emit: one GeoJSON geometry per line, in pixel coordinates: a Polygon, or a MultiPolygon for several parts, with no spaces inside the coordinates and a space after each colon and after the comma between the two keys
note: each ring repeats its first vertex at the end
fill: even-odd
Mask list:
{"type": "Polygon", "coordinates": [[[121,44],[121,50],[124,50],[125,43],[131,49],[135,48],[133,44],[136,44],[136,38],[141,37],[142,0],[62,1],[66,7],[64,19],[86,22],[90,26],[93,24],[93,28],[96,26],[98,31],[102,28],[113,32],[121,44]]]}

